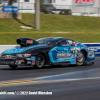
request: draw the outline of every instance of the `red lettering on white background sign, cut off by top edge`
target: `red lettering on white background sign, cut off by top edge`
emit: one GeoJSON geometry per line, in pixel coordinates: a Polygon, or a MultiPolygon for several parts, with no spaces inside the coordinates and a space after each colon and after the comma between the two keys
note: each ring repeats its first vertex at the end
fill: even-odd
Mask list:
{"type": "Polygon", "coordinates": [[[95,0],[75,0],[76,6],[93,6],[95,0]]]}

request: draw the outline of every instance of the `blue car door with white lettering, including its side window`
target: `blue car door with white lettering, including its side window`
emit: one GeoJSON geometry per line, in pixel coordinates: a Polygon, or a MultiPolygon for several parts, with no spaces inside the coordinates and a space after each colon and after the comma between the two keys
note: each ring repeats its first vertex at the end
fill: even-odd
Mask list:
{"type": "Polygon", "coordinates": [[[69,59],[72,59],[72,53],[70,51],[70,48],[73,46],[74,44],[72,40],[64,39],[58,41],[55,44],[55,47],[49,52],[50,61],[52,63],[56,63],[66,62],[69,59]]]}

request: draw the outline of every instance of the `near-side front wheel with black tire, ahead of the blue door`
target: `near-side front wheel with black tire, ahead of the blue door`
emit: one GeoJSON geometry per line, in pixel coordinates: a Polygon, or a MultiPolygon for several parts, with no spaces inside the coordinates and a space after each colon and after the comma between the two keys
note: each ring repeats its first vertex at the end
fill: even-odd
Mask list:
{"type": "Polygon", "coordinates": [[[39,54],[36,56],[35,67],[36,68],[43,68],[45,64],[45,56],[43,54],[39,54]]]}

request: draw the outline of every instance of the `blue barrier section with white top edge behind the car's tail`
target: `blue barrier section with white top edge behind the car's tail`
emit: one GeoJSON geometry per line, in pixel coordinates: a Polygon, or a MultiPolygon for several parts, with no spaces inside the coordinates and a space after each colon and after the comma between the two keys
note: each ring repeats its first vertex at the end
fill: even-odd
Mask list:
{"type": "Polygon", "coordinates": [[[100,43],[84,43],[87,47],[90,47],[95,52],[95,56],[100,56],[100,43]]]}

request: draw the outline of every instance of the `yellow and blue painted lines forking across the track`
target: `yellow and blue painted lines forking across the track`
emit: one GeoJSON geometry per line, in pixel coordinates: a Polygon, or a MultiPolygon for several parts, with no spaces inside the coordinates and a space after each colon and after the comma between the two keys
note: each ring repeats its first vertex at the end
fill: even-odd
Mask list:
{"type": "Polygon", "coordinates": [[[71,73],[65,73],[65,74],[60,74],[60,75],[54,75],[54,76],[48,76],[48,77],[40,77],[40,78],[35,78],[33,79],[28,79],[28,80],[22,80],[22,81],[8,81],[8,82],[0,82],[0,86],[3,85],[18,85],[18,84],[29,84],[29,83],[35,83],[35,82],[53,82],[53,81],[74,81],[74,80],[86,80],[86,79],[100,79],[100,77],[86,77],[86,78],[64,78],[62,77],[65,76],[70,76],[70,75],[76,75],[76,74],[81,74],[81,73],[86,73],[86,72],[91,72],[91,71],[96,71],[100,70],[100,68],[97,69],[90,69],[90,70],[84,70],[84,71],[77,71],[77,72],[71,72],[71,73]],[[56,79],[59,78],[59,79],[56,79]]]}

